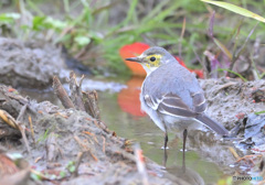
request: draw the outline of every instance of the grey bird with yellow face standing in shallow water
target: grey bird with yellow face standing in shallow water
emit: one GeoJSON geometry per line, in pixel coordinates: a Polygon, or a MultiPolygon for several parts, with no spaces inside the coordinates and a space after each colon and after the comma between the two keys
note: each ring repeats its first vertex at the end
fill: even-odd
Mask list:
{"type": "Polygon", "coordinates": [[[221,123],[205,113],[208,102],[194,74],[167,50],[153,46],[126,61],[141,64],[147,73],[140,92],[141,109],[165,132],[165,151],[169,131],[183,132],[183,153],[190,129],[205,126],[222,137],[229,135],[221,123]]]}

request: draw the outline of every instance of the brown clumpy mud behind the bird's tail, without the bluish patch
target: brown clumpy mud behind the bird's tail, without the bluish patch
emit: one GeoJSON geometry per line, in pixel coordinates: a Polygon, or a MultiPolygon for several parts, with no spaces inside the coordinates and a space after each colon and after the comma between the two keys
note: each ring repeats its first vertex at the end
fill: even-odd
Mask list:
{"type": "Polygon", "coordinates": [[[200,80],[208,100],[206,113],[229,130],[243,124],[247,115],[265,110],[265,80],[243,83],[240,79],[200,80]],[[261,90],[261,92],[258,92],[261,90]]]}

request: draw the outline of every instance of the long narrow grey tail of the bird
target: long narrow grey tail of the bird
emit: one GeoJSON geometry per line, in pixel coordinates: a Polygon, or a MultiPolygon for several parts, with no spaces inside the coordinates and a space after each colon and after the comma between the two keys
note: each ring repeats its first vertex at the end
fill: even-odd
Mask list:
{"type": "Polygon", "coordinates": [[[201,121],[203,124],[215,131],[218,134],[221,135],[229,135],[229,131],[219,122],[212,120],[206,115],[202,113],[197,117],[199,121],[201,121]]]}

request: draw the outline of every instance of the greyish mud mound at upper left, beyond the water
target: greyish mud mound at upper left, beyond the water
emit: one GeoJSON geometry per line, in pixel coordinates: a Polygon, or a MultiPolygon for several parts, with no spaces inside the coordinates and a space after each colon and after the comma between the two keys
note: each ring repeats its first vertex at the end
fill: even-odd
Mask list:
{"type": "Polygon", "coordinates": [[[52,44],[0,37],[0,83],[12,87],[46,88],[54,75],[65,77],[61,50],[52,44]]]}

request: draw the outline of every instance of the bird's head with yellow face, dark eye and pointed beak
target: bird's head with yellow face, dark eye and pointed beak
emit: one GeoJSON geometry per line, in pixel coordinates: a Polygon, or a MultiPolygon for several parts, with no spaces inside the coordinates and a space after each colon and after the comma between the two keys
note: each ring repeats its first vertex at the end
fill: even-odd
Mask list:
{"type": "Polygon", "coordinates": [[[165,48],[155,46],[146,50],[140,56],[126,58],[126,61],[141,64],[147,74],[149,74],[159,66],[176,61],[176,58],[165,48]]]}

